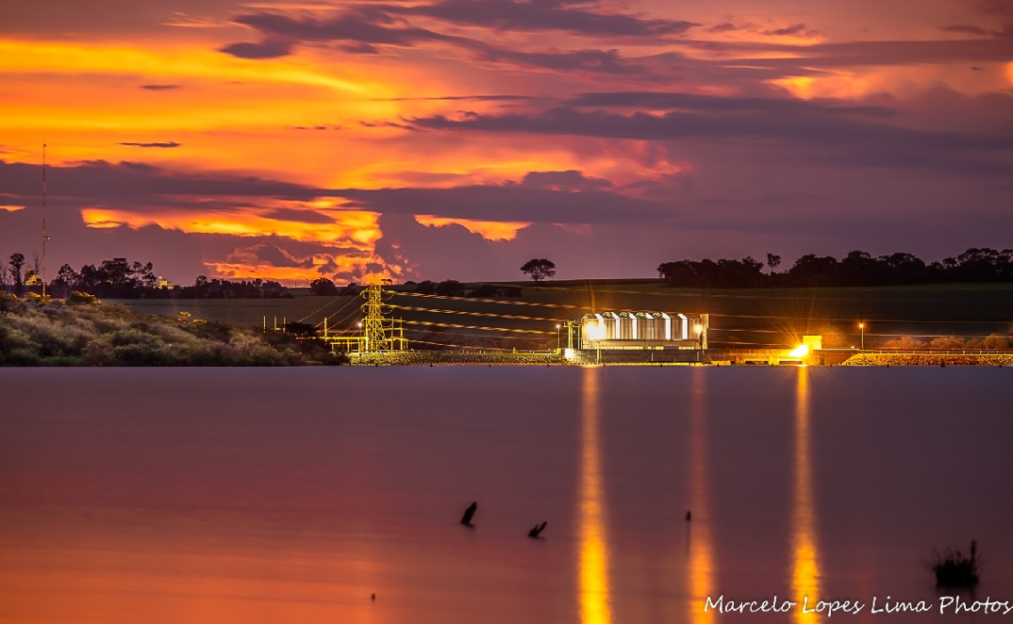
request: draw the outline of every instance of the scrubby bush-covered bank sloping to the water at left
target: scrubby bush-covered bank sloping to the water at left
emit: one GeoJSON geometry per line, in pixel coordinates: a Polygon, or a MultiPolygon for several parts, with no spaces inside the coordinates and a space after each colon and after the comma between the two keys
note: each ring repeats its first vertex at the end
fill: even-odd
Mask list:
{"type": "Polygon", "coordinates": [[[179,317],[144,316],[84,293],[66,301],[0,293],[0,366],[344,364],[317,340],[179,317]]]}

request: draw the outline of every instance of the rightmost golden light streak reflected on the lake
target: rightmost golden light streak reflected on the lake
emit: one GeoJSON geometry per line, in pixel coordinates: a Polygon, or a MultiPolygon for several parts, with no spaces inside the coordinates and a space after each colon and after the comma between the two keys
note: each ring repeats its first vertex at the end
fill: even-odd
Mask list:
{"type": "Polygon", "coordinates": [[[798,606],[792,610],[800,624],[821,621],[816,613],[803,613],[803,601],[813,609],[820,600],[820,552],[816,549],[815,509],[812,501],[812,460],[809,455],[809,371],[798,368],[795,388],[795,496],[791,518],[791,593],[798,606]]]}

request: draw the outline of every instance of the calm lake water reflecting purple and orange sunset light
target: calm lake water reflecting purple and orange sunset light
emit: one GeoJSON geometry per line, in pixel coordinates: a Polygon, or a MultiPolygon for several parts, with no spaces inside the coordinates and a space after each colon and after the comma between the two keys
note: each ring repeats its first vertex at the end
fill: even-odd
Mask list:
{"type": "Polygon", "coordinates": [[[1013,621],[940,617],[923,563],[977,539],[961,599],[1013,604],[1009,368],[0,369],[0,622],[1013,621]]]}

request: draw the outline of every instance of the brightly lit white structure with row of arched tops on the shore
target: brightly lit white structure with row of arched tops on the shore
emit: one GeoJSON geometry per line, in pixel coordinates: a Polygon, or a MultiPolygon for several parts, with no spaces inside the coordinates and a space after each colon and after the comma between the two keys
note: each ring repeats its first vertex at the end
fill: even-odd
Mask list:
{"type": "Polygon", "coordinates": [[[568,325],[568,346],[579,349],[705,349],[709,323],[708,314],[586,314],[568,325]]]}

